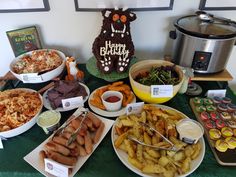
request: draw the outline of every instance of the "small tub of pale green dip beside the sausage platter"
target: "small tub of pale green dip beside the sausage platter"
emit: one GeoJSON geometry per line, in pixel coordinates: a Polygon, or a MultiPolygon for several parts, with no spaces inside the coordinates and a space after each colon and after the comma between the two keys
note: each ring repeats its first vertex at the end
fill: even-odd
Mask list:
{"type": "Polygon", "coordinates": [[[54,110],[48,110],[41,113],[37,119],[37,124],[42,127],[46,134],[53,132],[60,125],[61,113],[54,110]]]}

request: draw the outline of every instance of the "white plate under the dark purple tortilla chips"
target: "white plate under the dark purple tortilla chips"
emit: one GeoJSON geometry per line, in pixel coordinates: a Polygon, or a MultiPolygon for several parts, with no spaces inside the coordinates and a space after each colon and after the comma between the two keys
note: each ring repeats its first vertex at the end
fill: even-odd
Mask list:
{"type": "MultiPolygon", "coordinates": [[[[85,84],[83,84],[81,82],[79,84],[82,85],[85,88],[86,92],[87,92],[87,96],[84,98],[84,103],[85,103],[88,100],[88,98],[89,98],[90,91],[89,91],[89,88],[85,84]]],[[[53,88],[50,88],[46,92],[44,92],[44,94],[43,94],[43,105],[47,109],[54,110],[51,107],[50,101],[48,100],[48,96],[47,96],[48,95],[48,91],[51,90],[51,89],[53,89],[53,88]]],[[[75,109],[75,108],[64,109],[63,107],[59,107],[59,108],[57,108],[55,110],[59,111],[59,112],[65,112],[65,111],[70,111],[72,109],[75,109]]]]}

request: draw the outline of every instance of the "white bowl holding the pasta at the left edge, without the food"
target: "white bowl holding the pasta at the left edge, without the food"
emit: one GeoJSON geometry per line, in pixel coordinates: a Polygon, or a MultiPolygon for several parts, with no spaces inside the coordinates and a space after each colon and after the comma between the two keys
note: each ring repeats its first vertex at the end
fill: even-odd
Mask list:
{"type": "MultiPolygon", "coordinates": [[[[37,92],[35,90],[27,89],[27,88],[17,88],[15,90],[26,90],[26,91],[29,91],[29,92],[37,92]]],[[[21,133],[26,132],[31,127],[33,127],[33,125],[36,123],[38,115],[41,113],[42,108],[43,108],[43,99],[42,99],[42,96],[40,94],[39,94],[39,97],[40,97],[41,103],[42,103],[41,107],[39,109],[39,112],[32,119],[30,119],[30,121],[26,122],[25,124],[21,125],[20,127],[17,127],[17,128],[8,130],[8,131],[0,132],[0,136],[2,136],[4,138],[14,137],[14,136],[17,136],[21,133]]]]}

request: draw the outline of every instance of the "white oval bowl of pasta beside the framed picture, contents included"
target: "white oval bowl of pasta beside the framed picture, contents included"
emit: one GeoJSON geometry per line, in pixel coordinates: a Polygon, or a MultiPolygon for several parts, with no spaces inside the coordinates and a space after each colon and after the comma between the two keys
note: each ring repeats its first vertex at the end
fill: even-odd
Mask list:
{"type": "Polygon", "coordinates": [[[10,71],[24,83],[42,83],[59,76],[65,60],[65,54],[59,50],[33,50],[16,57],[10,64],[10,71]]]}

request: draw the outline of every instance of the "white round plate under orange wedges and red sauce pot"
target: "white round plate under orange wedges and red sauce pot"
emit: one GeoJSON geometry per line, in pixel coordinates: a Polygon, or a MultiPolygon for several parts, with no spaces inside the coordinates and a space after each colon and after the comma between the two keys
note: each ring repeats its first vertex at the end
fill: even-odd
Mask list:
{"type": "MultiPolygon", "coordinates": [[[[102,86],[104,87],[104,86],[102,86]]],[[[102,88],[100,87],[100,88],[102,88]]],[[[98,89],[100,89],[98,88],[98,89]]],[[[97,89],[96,89],[97,90],[97,89]]],[[[93,95],[94,93],[96,92],[96,90],[94,90],[91,95],[89,96],[89,100],[88,100],[88,104],[89,104],[89,107],[97,114],[101,115],[101,116],[105,116],[105,117],[117,117],[117,116],[120,116],[120,115],[123,115],[126,113],[126,107],[122,107],[122,109],[120,109],[119,111],[106,111],[106,110],[102,110],[102,109],[99,109],[93,105],[90,104],[90,99],[93,98],[93,95]]],[[[131,92],[133,95],[134,93],[131,92]]],[[[131,103],[135,103],[136,102],[136,96],[134,95],[134,99],[131,101],[131,103]]]]}

